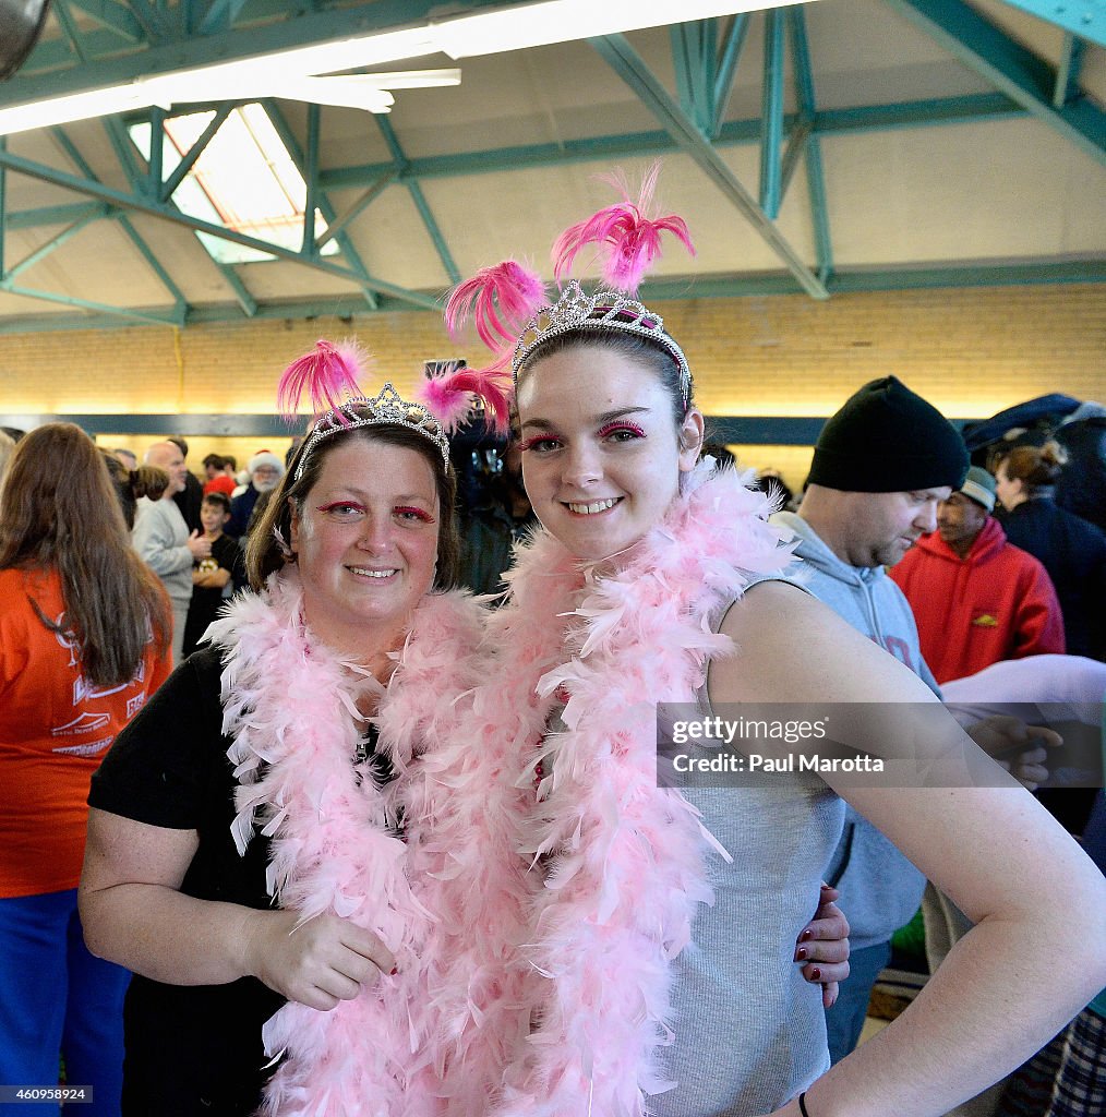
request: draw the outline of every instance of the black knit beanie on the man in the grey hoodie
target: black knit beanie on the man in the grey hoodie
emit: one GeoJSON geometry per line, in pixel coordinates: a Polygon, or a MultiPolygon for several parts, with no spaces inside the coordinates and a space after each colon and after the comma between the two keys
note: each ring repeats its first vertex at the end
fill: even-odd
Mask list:
{"type": "Polygon", "coordinates": [[[810,484],[848,493],[912,493],[967,474],[955,427],[895,376],[865,384],[831,416],[814,446],[810,484]]]}

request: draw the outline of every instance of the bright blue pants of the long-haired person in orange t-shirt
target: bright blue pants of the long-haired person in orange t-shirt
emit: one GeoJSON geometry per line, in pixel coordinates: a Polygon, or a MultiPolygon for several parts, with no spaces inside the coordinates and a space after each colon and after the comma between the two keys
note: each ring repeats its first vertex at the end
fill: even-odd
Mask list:
{"type": "MultiPolygon", "coordinates": [[[[0,1085],[57,1085],[61,1052],[68,1085],[90,1086],[94,1097],[66,1114],[118,1117],[130,980],[85,946],[75,888],[0,899],[0,1085]]],[[[56,1102],[0,1102],[0,1117],[58,1111],[56,1102]]]]}

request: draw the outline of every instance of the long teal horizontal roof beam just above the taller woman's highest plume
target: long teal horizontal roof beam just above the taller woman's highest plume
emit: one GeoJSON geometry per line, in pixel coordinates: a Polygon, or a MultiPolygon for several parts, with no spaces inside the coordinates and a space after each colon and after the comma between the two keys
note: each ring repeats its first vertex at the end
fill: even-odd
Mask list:
{"type": "MultiPolygon", "coordinates": [[[[908,101],[893,105],[865,105],[820,112],[814,118],[814,133],[880,132],[890,128],[918,128],[971,121],[1004,120],[1023,116],[1024,109],[1001,93],[970,97],[943,97],[908,101]]],[[[800,124],[798,115],[784,117],[786,131],[800,124]]],[[[760,140],[760,120],[730,121],[722,126],[717,147],[752,144],[760,140]]],[[[498,174],[531,166],[561,166],[570,163],[607,162],[635,155],[665,155],[680,150],[668,133],[633,132],[624,135],[597,136],[588,140],[564,140],[557,143],[525,144],[488,151],[459,152],[454,155],[431,155],[411,159],[397,170],[394,163],[365,163],[323,171],[320,182],[324,190],[346,190],[371,187],[381,175],[391,174],[398,182],[408,179],[451,179],[466,174],[498,174]]]]}

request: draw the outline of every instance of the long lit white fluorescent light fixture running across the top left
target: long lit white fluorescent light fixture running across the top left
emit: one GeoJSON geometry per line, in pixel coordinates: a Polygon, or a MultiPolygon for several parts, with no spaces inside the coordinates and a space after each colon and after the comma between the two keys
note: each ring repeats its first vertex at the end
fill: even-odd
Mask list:
{"type": "MultiPolygon", "coordinates": [[[[387,94],[381,95],[382,90],[456,83],[432,78],[418,80],[420,74],[436,73],[419,70],[325,79],[318,75],[433,54],[447,54],[451,58],[494,55],[694,19],[785,7],[792,2],[794,0],[680,0],[677,9],[673,0],[545,0],[543,3],[460,16],[400,31],[292,47],[231,63],[155,74],[121,86],[0,108],[0,135],[151,105],[168,109],[172,105],[197,101],[245,101],[267,96],[387,112],[390,99],[387,94]],[[389,78],[399,80],[390,83],[389,78]]],[[[457,70],[438,73],[456,74],[457,80],[460,80],[457,70]]]]}

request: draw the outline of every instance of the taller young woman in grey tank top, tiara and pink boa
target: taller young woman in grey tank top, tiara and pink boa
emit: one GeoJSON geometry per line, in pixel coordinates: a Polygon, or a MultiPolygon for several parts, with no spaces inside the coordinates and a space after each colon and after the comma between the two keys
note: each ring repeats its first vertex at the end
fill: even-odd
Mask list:
{"type": "Polygon", "coordinates": [[[883,733],[859,737],[878,756],[883,704],[936,699],[779,580],[788,550],[751,475],[698,461],[688,362],[635,297],[662,231],[690,244],[678,218],[648,218],[654,179],[637,204],[627,195],[560,238],[554,300],[508,261],[448,312],[455,328],[476,318],[496,354],[484,372],[514,378],[542,523],[488,621],[495,666],[466,715],[482,748],[507,743],[487,811],[518,829],[496,849],[534,866],[533,896],[504,904],[495,928],[515,944],[502,981],[530,1004],[531,1031],[500,1049],[503,1087],[480,1111],[944,1114],[1102,987],[1103,881],[982,754],[989,786],[658,787],[658,701],[880,704],[883,733]],[[594,293],[563,283],[589,246],[606,260],[594,293]],[[828,1070],[821,1002],[789,970],[840,832],[838,791],[976,927],[898,1020],[828,1070]]]}

